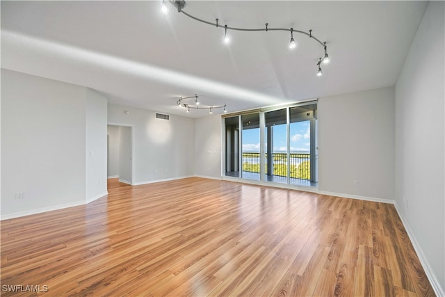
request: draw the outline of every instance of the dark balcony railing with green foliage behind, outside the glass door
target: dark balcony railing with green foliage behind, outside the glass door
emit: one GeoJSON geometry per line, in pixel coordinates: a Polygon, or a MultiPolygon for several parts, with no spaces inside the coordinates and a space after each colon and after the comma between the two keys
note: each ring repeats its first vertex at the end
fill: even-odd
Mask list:
{"type": "MultiPolygon", "coordinates": [[[[265,171],[267,168],[268,156],[265,156],[265,171]]],[[[287,176],[287,154],[272,154],[273,159],[273,175],[287,176]]],[[[259,173],[260,156],[259,152],[243,152],[243,171],[259,173]]],[[[289,154],[289,177],[296,179],[311,180],[311,161],[310,154],[291,153],[289,154]]]]}

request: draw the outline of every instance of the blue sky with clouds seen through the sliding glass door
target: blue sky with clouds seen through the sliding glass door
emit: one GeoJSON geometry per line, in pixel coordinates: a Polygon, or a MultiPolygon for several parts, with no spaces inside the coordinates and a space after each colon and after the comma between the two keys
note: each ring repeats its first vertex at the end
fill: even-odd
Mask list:
{"type": "MultiPolygon", "coordinates": [[[[286,152],[286,125],[273,127],[273,152],[286,152]]],[[[291,123],[291,152],[309,152],[309,121],[291,123]]],[[[259,152],[259,128],[243,130],[243,152],[259,152]]]]}

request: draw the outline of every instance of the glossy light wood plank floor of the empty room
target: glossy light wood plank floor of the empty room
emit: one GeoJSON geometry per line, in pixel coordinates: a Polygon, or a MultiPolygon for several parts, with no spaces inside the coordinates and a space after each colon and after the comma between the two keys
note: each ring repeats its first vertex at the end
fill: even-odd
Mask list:
{"type": "Polygon", "coordinates": [[[434,296],[391,204],[200,178],[133,187],[114,180],[108,191],[88,205],[3,220],[2,288],[434,296]]]}

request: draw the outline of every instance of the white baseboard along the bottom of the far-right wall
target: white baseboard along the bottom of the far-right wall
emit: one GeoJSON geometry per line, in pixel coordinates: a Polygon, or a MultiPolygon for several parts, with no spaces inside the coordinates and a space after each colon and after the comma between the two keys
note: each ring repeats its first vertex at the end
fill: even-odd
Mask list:
{"type": "Polygon", "coordinates": [[[412,246],[414,247],[414,250],[416,251],[417,257],[419,257],[419,260],[420,260],[420,263],[422,264],[423,270],[426,273],[426,277],[430,281],[430,284],[431,284],[432,289],[434,290],[436,296],[445,296],[444,288],[442,288],[439,280],[437,279],[437,276],[435,275],[434,271],[432,271],[430,263],[426,259],[425,254],[423,254],[423,250],[420,247],[419,241],[417,241],[416,236],[414,236],[414,234],[412,233],[410,225],[408,224],[407,220],[405,219],[405,216],[403,216],[403,213],[402,213],[401,209],[398,207],[398,204],[396,201],[394,201],[394,207],[396,207],[397,214],[402,220],[403,227],[405,227],[408,237],[410,237],[412,246]]]}

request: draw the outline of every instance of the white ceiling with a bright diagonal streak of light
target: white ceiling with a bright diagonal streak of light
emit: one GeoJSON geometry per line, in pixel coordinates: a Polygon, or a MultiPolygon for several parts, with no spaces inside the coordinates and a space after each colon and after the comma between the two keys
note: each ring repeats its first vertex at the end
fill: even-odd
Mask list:
{"type": "MultiPolygon", "coordinates": [[[[1,1],[1,67],[98,90],[109,102],[198,118],[179,96],[227,111],[393,86],[426,1],[187,1],[184,11],[228,26],[309,31],[229,31],[160,1],[1,1]]],[[[191,102],[192,103],[192,102],[191,102]]],[[[218,112],[222,112],[219,110],[218,112]]]]}

